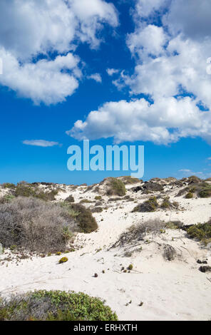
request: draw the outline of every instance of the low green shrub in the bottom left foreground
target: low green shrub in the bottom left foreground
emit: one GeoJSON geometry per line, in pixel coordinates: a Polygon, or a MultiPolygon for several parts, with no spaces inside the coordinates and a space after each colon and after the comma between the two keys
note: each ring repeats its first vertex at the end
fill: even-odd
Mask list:
{"type": "Polygon", "coordinates": [[[101,299],[84,293],[35,291],[0,300],[0,321],[117,321],[101,299]]]}

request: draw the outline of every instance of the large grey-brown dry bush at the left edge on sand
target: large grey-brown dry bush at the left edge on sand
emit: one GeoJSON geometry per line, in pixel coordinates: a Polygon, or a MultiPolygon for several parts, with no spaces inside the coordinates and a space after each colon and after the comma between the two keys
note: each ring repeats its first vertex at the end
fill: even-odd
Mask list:
{"type": "Polygon", "coordinates": [[[17,197],[0,205],[0,242],[4,247],[32,252],[55,252],[66,249],[77,224],[61,206],[34,198],[17,197]]]}

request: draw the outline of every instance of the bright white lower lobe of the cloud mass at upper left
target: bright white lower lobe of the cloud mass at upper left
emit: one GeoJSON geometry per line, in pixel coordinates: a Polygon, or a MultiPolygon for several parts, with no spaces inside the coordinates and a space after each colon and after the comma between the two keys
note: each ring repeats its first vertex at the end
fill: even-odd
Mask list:
{"type": "Polygon", "coordinates": [[[1,85],[8,86],[19,96],[31,98],[35,104],[61,102],[78,88],[77,78],[81,72],[78,58],[71,53],[58,56],[53,61],[43,59],[23,65],[4,49],[0,49],[0,54],[4,65],[1,85]]]}

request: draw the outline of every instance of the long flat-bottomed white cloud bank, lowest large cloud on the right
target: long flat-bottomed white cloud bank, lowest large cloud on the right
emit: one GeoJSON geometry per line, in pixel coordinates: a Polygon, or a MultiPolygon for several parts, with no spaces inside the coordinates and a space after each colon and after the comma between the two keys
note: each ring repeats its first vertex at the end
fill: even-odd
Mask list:
{"type": "Polygon", "coordinates": [[[158,98],[153,104],[143,98],[121,100],[105,103],[66,133],[78,140],[113,137],[115,143],[142,140],[164,145],[200,135],[211,143],[211,116],[190,97],[158,98]]]}

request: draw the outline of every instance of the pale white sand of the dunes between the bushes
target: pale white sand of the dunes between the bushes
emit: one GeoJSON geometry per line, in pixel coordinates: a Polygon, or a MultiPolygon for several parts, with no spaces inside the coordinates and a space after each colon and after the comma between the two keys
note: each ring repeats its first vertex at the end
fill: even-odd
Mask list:
{"type": "MultiPolygon", "coordinates": [[[[74,190],[67,186],[64,190],[58,194],[57,200],[73,195],[76,202],[81,199],[94,201],[97,195],[93,190],[85,192],[85,186],[74,190]]],[[[167,187],[165,192],[170,195],[170,200],[179,202],[180,210],[153,213],[131,212],[136,201],[143,202],[148,196],[134,193],[130,187],[127,195],[135,198],[135,202],[108,202],[108,197],[102,195],[104,205],[110,207],[93,214],[98,231],[77,235],[77,250],[66,254],[68,262],[58,264],[61,256],[0,262],[0,294],[7,297],[11,293],[34,289],[74,290],[105,299],[120,320],[211,319],[211,273],[200,272],[200,264],[197,264],[197,259],[207,259],[211,265],[209,247],[204,248],[199,242],[188,239],[182,230],[166,230],[151,237],[149,244],[139,242],[139,251],[131,257],[125,257],[130,246],[110,249],[128,227],[149,218],[165,222],[180,220],[185,225],[210,219],[211,199],[175,197],[178,190],[167,187]],[[165,244],[172,245],[177,252],[171,262],[163,258],[165,244]],[[133,264],[130,273],[121,271],[129,264],[133,264]],[[143,302],[142,306],[140,302],[143,302]]],[[[90,205],[94,203],[86,204],[90,205]]],[[[2,255],[0,259],[4,257],[2,255]]]]}

